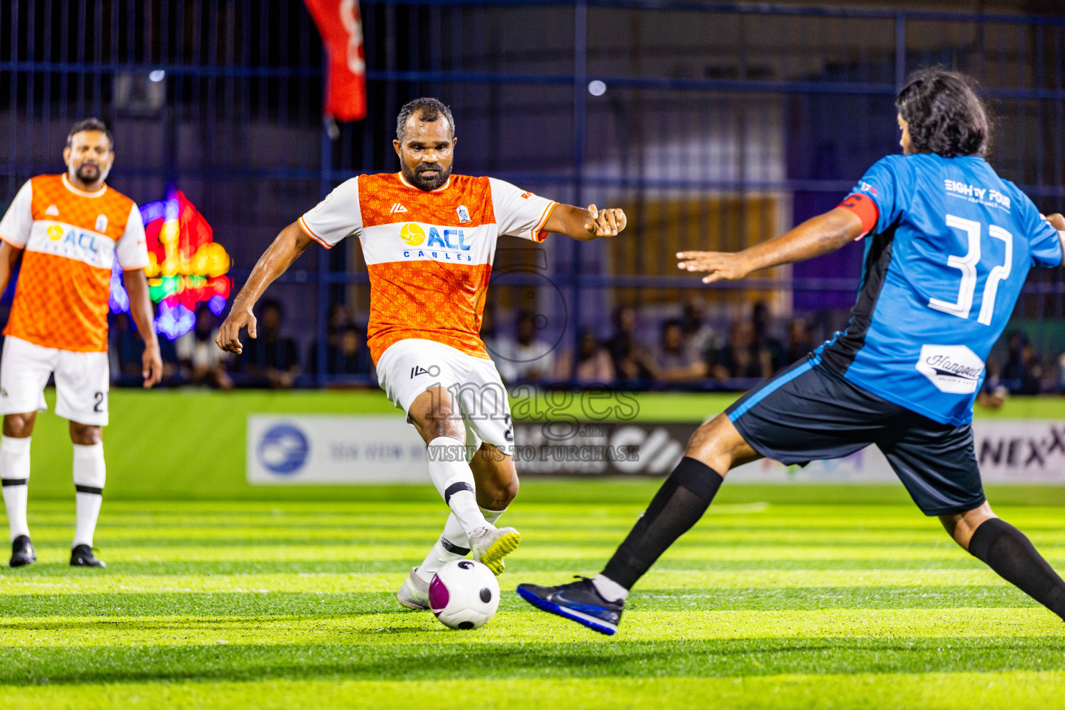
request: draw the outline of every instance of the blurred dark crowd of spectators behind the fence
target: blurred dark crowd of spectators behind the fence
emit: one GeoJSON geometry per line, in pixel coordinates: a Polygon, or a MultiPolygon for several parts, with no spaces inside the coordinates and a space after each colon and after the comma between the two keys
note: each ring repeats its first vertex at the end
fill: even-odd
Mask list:
{"type": "MultiPolygon", "coordinates": [[[[509,328],[502,328],[494,311],[487,309],[481,337],[508,385],[744,390],[805,358],[826,334],[815,337],[804,318],[774,319],[761,302],[723,325],[711,324],[704,311],[698,297],[685,301],[673,316],[657,318],[623,306],[611,313],[605,336],[585,328],[573,343],[568,334],[551,334],[542,315],[520,311],[509,328]]],[[[357,320],[345,307],[329,309],[324,362],[316,340],[300,347],[286,334],[278,301],[261,302],[257,318],[258,337],[242,335],[244,352],[230,356],[214,344],[222,318],[201,307],[190,332],[173,342],[160,339],[164,384],[218,390],[314,386],[321,365],[332,386],[376,386],[365,320],[357,320]]],[[[129,316],[113,316],[110,359],[116,384],[141,384],[142,352],[129,316]]],[[[1065,390],[1065,354],[1047,366],[1025,333],[1014,330],[987,363],[981,401],[994,407],[1009,394],[1059,390],[1065,390]]]]}

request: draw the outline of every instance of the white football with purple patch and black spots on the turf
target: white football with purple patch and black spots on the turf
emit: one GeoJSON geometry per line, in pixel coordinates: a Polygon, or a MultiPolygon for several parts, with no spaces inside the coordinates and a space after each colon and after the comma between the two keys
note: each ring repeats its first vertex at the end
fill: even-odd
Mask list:
{"type": "Polygon", "coordinates": [[[429,608],[449,628],[481,627],[495,615],[498,606],[499,583],[480,562],[448,562],[429,582],[429,608]]]}

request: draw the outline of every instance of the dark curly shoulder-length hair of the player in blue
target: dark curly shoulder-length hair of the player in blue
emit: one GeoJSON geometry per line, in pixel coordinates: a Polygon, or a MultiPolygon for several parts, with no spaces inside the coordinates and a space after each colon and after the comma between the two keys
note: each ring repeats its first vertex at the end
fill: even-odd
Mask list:
{"type": "Polygon", "coordinates": [[[977,96],[976,82],[941,67],[918,69],[895,99],[908,123],[910,144],[919,153],[944,158],[983,155],[990,141],[990,120],[977,96]]]}

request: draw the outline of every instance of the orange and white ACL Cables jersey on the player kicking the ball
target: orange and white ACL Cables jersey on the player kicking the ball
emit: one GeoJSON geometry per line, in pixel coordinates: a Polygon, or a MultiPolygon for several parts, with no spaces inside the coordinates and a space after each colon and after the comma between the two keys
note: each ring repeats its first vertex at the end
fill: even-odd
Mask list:
{"type": "Polygon", "coordinates": [[[425,192],[402,172],[363,175],[338,185],[299,226],[326,248],[359,237],[375,363],[411,337],[488,360],[479,333],[496,237],[542,242],[555,204],[494,178],[453,175],[425,192]]]}

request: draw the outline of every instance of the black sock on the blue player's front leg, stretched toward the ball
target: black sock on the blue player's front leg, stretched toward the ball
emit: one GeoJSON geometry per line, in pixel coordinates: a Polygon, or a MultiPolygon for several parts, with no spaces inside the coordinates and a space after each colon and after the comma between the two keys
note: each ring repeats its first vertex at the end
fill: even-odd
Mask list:
{"type": "Polygon", "coordinates": [[[625,589],[706,512],[724,478],[702,461],[685,457],[670,474],[603,575],[625,589]]]}

